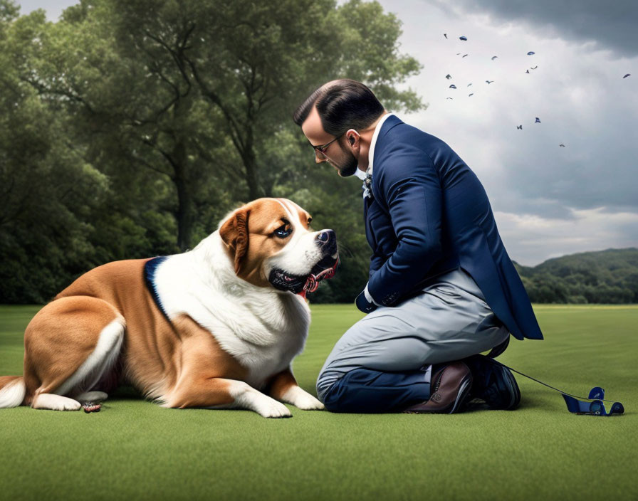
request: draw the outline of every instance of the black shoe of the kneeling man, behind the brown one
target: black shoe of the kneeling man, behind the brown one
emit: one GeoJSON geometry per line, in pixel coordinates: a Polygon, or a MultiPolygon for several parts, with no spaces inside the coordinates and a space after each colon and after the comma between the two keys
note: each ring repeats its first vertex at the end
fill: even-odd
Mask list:
{"type": "Polygon", "coordinates": [[[521,390],[510,369],[478,354],[464,359],[474,385],[469,399],[480,399],[493,409],[512,411],[521,403],[521,390]]]}

